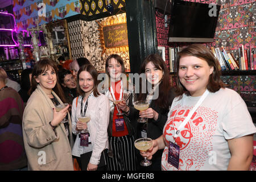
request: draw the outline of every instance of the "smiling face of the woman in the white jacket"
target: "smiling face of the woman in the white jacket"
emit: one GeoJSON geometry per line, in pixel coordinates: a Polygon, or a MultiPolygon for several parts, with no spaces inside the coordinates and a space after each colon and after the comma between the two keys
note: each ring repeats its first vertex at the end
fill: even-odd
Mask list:
{"type": "Polygon", "coordinates": [[[92,92],[94,88],[94,80],[92,75],[87,71],[82,71],[79,74],[79,86],[82,91],[86,93],[92,92]]]}

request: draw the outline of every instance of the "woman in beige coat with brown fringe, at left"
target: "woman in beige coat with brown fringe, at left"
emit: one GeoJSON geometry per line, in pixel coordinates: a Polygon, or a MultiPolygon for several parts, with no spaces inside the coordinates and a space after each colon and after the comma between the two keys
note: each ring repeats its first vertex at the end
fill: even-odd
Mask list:
{"type": "Polygon", "coordinates": [[[56,71],[50,60],[39,61],[32,71],[31,96],[23,114],[28,170],[73,170],[69,106],[55,110],[64,101],[56,71]],[[62,123],[65,117],[68,122],[62,123]]]}

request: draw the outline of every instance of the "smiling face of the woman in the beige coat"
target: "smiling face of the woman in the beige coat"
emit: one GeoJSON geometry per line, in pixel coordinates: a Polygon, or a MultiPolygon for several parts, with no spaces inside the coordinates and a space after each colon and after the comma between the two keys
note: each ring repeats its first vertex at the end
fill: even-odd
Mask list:
{"type": "Polygon", "coordinates": [[[44,92],[51,93],[57,82],[57,76],[52,67],[47,68],[40,75],[35,77],[36,82],[42,87],[44,92]]]}

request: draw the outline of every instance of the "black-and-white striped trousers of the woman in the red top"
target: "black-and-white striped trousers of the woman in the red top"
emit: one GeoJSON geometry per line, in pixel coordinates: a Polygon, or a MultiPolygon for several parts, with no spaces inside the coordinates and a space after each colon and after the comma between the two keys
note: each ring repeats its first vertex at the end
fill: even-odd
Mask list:
{"type": "Polygon", "coordinates": [[[108,171],[135,171],[134,137],[109,137],[109,146],[113,150],[113,157],[107,157],[108,171]]]}

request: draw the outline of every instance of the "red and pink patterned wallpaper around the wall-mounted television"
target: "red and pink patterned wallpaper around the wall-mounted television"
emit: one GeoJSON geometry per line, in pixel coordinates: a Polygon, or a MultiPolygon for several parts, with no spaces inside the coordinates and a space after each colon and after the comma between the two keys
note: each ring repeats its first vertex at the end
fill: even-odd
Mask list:
{"type": "MultiPolygon", "coordinates": [[[[207,43],[207,46],[221,47],[224,46],[227,51],[237,55],[238,47],[243,44],[246,48],[256,48],[255,45],[255,0],[184,0],[201,3],[217,3],[221,5],[216,34],[213,43],[207,43]]],[[[170,18],[170,15],[168,16],[170,18]]],[[[164,27],[163,14],[156,12],[156,32],[158,46],[166,48],[166,64],[169,63],[169,47],[188,46],[192,43],[168,43],[168,27],[164,27]]],[[[255,71],[256,72],[256,71],[255,71]]],[[[236,90],[247,106],[256,107],[256,76],[222,76],[222,80],[228,84],[229,88],[236,90]]],[[[175,76],[171,76],[171,84],[175,86],[175,76]]]]}

